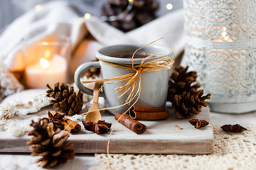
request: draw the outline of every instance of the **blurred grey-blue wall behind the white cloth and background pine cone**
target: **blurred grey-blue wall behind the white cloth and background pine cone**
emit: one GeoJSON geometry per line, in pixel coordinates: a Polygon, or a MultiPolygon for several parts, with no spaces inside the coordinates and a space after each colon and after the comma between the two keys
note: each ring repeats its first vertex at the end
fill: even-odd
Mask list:
{"type": "MultiPolygon", "coordinates": [[[[43,4],[53,0],[0,0],[0,33],[6,28],[15,18],[18,18],[26,11],[34,8],[38,4],[43,4]]],[[[61,0],[70,1],[74,4],[81,3],[78,13],[83,16],[85,13],[92,13],[95,16],[100,16],[101,6],[106,0],[61,0]]],[[[58,7],[58,6],[56,6],[58,7]]],[[[182,0],[159,0],[159,10],[156,11],[157,16],[163,16],[166,13],[176,11],[183,8],[182,0]],[[167,5],[167,7],[166,7],[167,5]]]]}

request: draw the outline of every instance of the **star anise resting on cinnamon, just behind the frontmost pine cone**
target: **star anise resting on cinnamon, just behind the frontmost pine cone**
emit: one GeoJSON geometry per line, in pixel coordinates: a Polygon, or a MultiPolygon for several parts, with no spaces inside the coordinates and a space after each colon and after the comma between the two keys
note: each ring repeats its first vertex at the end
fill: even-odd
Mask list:
{"type": "Polygon", "coordinates": [[[54,130],[57,128],[63,129],[64,116],[64,114],[60,114],[57,111],[53,111],[53,113],[50,113],[50,111],[48,111],[48,118],[42,118],[42,120],[46,121],[47,123],[53,123],[54,130]]]}

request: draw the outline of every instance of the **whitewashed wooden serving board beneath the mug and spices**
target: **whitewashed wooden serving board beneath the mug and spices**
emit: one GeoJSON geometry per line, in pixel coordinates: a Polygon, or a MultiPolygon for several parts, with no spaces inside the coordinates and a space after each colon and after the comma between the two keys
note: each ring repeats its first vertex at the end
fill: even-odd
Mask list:
{"type": "MultiPolygon", "coordinates": [[[[120,123],[114,126],[110,140],[110,153],[133,154],[209,154],[213,152],[213,127],[208,126],[196,129],[188,120],[180,120],[169,109],[167,120],[140,121],[147,130],[137,135],[120,123]],[[175,125],[183,128],[180,130],[175,125]]],[[[196,116],[199,120],[210,122],[209,108],[203,108],[202,113],[196,116]]],[[[116,120],[110,113],[102,115],[102,120],[112,123],[116,120]]],[[[82,124],[81,124],[82,125],[82,124]]],[[[68,140],[75,142],[76,153],[106,153],[110,133],[96,135],[83,128],[76,135],[70,135],[68,140]]],[[[26,142],[30,136],[11,137],[6,132],[0,132],[0,152],[30,152],[26,142]]]]}

